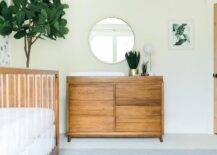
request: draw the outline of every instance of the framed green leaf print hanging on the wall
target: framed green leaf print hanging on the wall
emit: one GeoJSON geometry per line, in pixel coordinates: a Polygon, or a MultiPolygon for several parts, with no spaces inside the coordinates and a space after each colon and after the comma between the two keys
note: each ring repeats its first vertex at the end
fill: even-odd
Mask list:
{"type": "Polygon", "coordinates": [[[169,49],[190,50],[194,47],[192,21],[169,22],[169,49]]]}

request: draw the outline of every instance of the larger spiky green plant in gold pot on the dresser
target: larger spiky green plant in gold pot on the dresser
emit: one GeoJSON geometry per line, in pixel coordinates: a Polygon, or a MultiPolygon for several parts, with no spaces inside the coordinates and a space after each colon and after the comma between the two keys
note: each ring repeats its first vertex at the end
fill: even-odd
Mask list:
{"type": "Polygon", "coordinates": [[[127,63],[130,67],[129,75],[137,76],[139,75],[138,65],[140,61],[140,52],[139,51],[130,51],[125,54],[127,63]]]}

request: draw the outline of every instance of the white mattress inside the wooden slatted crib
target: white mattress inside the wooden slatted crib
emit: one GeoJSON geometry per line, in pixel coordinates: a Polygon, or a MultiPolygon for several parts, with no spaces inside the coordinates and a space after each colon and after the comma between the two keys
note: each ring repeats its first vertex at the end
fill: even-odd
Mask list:
{"type": "Polygon", "coordinates": [[[0,155],[15,155],[53,126],[51,109],[0,108],[0,155]]]}

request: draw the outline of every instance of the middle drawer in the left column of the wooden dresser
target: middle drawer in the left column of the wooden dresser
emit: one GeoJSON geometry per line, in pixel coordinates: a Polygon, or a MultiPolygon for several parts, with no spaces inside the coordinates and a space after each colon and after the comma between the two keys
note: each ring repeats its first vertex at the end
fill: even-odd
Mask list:
{"type": "Polygon", "coordinates": [[[69,115],[113,116],[113,101],[69,101],[69,115]]]}

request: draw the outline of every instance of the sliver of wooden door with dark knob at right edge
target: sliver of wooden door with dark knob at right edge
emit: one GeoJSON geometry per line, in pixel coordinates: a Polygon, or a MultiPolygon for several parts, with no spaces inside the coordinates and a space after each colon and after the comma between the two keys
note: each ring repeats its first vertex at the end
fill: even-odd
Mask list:
{"type": "Polygon", "coordinates": [[[217,4],[214,5],[214,133],[217,134],[217,4]]]}

